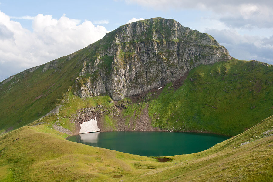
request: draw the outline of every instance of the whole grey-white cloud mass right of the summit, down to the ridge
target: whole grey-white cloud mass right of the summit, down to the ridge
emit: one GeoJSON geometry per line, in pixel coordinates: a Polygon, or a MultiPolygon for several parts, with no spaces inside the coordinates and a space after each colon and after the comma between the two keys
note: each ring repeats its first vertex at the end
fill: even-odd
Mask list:
{"type": "Polygon", "coordinates": [[[211,34],[237,59],[273,63],[273,1],[229,0],[224,3],[219,0],[124,1],[161,11],[199,10],[205,17],[200,17],[200,21],[192,21],[187,26],[211,34]]]}

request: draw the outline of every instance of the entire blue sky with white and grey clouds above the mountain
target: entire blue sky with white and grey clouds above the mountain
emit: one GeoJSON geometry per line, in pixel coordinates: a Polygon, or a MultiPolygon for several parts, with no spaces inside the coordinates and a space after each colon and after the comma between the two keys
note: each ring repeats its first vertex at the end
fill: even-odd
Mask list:
{"type": "Polygon", "coordinates": [[[273,64],[269,0],[0,0],[0,82],[76,52],[120,25],[172,18],[212,35],[230,55],[273,64]]]}

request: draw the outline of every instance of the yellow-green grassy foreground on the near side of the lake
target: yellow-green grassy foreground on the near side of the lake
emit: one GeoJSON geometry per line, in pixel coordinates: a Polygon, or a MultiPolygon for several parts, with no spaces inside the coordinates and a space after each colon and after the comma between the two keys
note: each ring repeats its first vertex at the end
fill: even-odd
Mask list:
{"type": "Polygon", "coordinates": [[[0,137],[0,181],[272,181],[272,135],[273,116],[208,150],[159,163],[67,141],[46,124],[25,126],[0,137]]]}

